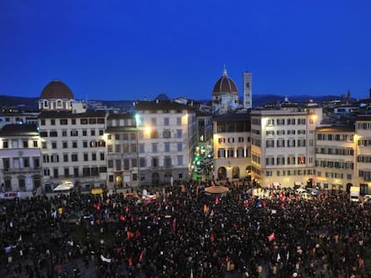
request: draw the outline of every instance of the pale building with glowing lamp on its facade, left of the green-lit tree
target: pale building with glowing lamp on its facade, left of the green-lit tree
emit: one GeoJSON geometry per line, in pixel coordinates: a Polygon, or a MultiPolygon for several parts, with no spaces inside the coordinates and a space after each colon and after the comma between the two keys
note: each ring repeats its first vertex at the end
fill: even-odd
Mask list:
{"type": "Polygon", "coordinates": [[[141,185],[188,180],[198,141],[194,108],[156,100],[136,102],[134,109],[141,185]]]}

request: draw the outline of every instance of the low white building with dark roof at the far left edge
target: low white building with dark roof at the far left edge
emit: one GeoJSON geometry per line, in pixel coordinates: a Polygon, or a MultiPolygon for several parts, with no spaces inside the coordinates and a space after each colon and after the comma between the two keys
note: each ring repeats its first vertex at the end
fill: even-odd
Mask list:
{"type": "Polygon", "coordinates": [[[36,124],[8,124],[0,131],[0,184],[4,191],[35,192],[41,186],[40,138],[36,124]]]}

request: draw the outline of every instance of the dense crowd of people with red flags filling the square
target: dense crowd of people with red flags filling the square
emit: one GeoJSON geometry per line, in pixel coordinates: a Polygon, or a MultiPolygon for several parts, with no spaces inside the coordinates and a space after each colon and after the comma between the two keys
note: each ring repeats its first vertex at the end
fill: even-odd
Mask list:
{"type": "MultiPolygon", "coordinates": [[[[344,192],[257,198],[246,184],[206,195],[192,183],[155,195],[1,199],[9,277],[370,277],[371,208],[344,192]]],[[[154,192],[153,192],[154,193],[154,192]]]]}

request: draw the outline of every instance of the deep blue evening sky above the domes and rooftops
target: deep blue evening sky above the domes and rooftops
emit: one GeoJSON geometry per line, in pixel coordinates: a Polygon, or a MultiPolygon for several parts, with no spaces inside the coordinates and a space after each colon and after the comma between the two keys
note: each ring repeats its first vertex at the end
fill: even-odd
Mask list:
{"type": "Polygon", "coordinates": [[[242,96],[367,98],[369,0],[0,0],[0,95],[211,98],[224,64],[242,96]]]}

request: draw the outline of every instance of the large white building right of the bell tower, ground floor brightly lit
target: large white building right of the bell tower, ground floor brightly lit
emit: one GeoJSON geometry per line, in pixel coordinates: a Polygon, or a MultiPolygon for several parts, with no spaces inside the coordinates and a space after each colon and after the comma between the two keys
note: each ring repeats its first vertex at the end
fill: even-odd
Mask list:
{"type": "Polygon", "coordinates": [[[315,128],[322,108],[251,111],[251,168],[262,186],[313,181],[315,128]]]}

